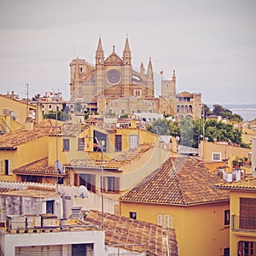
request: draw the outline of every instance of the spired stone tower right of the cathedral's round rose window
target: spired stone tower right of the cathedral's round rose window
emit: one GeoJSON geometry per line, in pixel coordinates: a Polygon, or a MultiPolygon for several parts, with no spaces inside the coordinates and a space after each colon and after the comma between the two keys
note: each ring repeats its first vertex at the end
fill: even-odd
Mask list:
{"type": "Polygon", "coordinates": [[[123,51],[123,96],[131,96],[131,50],[128,38],[123,51]]]}

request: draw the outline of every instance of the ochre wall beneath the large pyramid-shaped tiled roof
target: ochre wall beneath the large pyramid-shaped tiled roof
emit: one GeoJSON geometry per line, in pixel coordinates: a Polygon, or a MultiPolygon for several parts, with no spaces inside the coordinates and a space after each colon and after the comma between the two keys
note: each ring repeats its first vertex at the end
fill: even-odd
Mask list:
{"type": "Polygon", "coordinates": [[[172,228],[176,230],[178,253],[182,256],[223,255],[229,247],[229,226],[224,226],[224,210],[229,202],[216,202],[193,207],[121,202],[121,215],[157,224],[157,214],[172,215],[172,228]]]}

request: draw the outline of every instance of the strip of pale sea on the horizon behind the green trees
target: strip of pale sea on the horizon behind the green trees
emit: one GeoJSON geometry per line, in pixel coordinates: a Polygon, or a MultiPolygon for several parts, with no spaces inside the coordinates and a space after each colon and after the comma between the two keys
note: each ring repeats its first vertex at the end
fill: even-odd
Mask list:
{"type": "MultiPolygon", "coordinates": [[[[241,115],[244,121],[251,121],[256,119],[256,104],[219,104],[224,108],[228,108],[232,113],[241,115]]],[[[207,105],[213,108],[213,104],[207,105]]]]}

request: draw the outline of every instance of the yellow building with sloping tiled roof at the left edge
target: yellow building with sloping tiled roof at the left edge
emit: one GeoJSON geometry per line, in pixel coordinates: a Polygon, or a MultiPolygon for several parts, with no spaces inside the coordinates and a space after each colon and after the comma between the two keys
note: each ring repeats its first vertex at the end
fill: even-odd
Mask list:
{"type": "Polygon", "coordinates": [[[28,123],[26,128],[0,136],[0,179],[14,181],[14,169],[48,157],[49,134],[55,129],[55,120],[44,119],[39,124],[28,123]]]}

